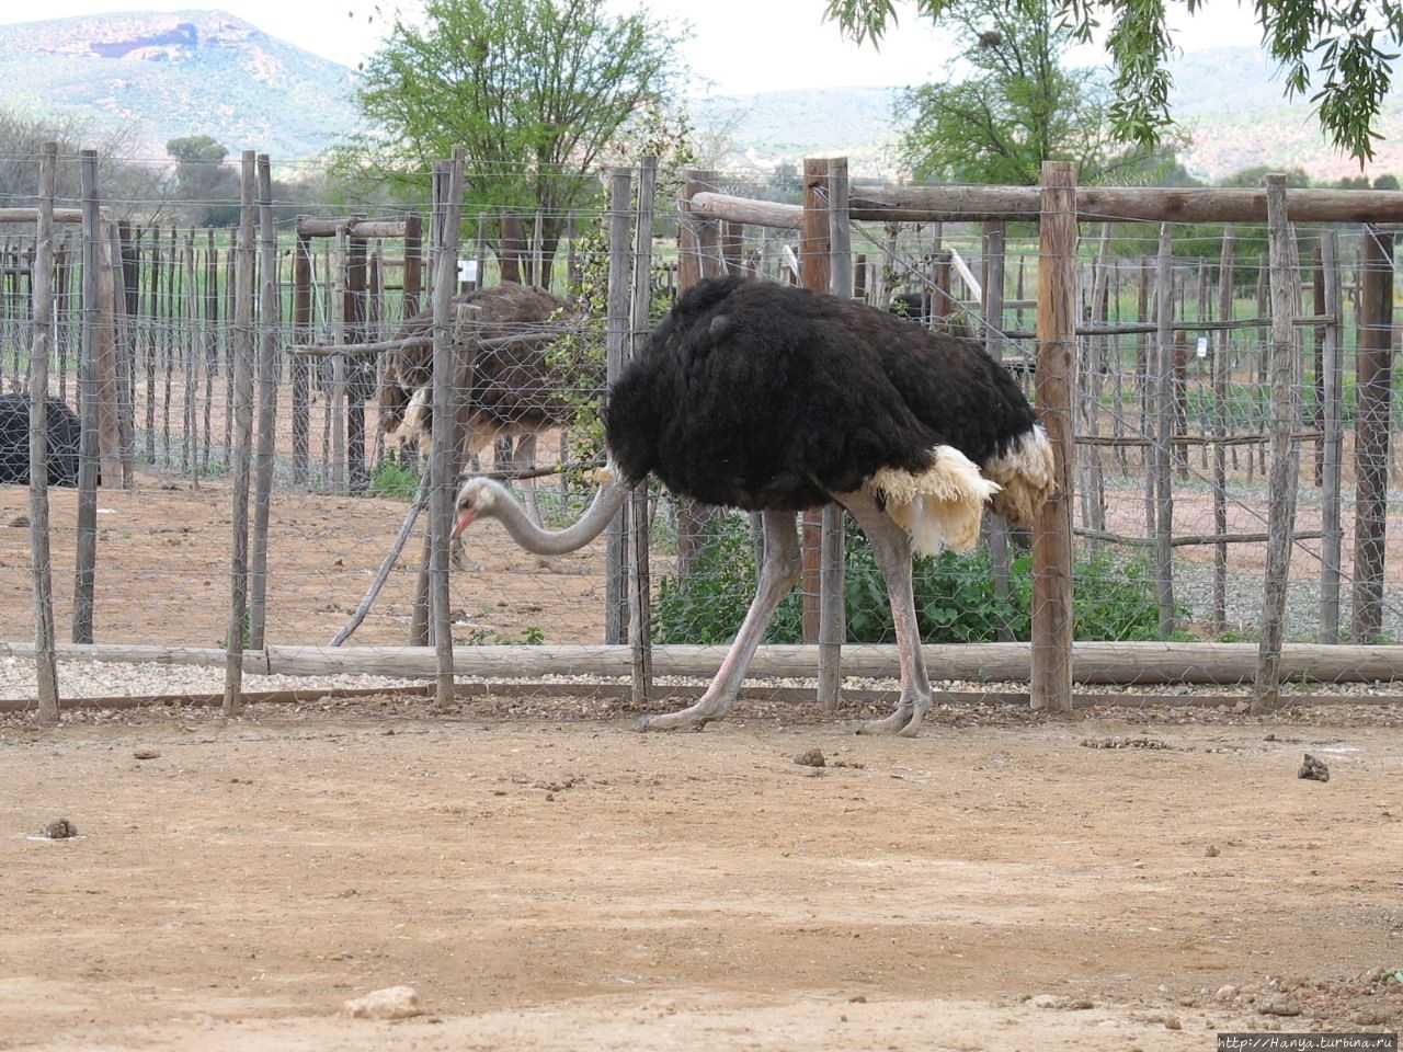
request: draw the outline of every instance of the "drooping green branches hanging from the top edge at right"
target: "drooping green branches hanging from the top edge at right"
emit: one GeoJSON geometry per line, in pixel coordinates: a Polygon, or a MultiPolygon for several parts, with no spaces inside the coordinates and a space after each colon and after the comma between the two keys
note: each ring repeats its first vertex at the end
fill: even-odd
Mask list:
{"type": "MultiPolygon", "coordinates": [[[[922,17],[948,21],[976,0],[915,0],[922,17]]],[[[1108,115],[1122,142],[1150,146],[1173,126],[1166,63],[1174,46],[1170,4],[1194,14],[1202,0],[1055,0],[1055,15],[1080,41],[1104,22],[1114,67],[1108,115]]],[[[1263,43],[1288,95],[1310,94],[1326,137],[1361,163],[1374,157],[1378,116],[1403,45],[1399,0],[1256,0],[1263,43]]],[[[825,0],[825,17],[853,39],[878,43],[897,22],[892,0],[825,0]]]]}

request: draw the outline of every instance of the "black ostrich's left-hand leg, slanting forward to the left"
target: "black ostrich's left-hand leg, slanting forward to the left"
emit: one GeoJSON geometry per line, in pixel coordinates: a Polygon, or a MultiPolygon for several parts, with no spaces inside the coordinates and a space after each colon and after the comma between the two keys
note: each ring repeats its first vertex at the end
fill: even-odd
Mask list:
{"type": "Polygon", "coordinates": [[[735,634],[725,661],[711,680],[711,686],[693,704],[666,715],[643,717],[638,731],[672,731],[679,727],[700,729],[711,720],[720,720],[731,711],[735,694],[745,679],[745,669],[755,656],[755,648],[765,638],[765,630],[774,617],[784,595],[798,582],[798,530],[794,512],[762,512],[765,529],[765,562],[760,565],[760,584],[751,600],[751,609],[735,634]]]}

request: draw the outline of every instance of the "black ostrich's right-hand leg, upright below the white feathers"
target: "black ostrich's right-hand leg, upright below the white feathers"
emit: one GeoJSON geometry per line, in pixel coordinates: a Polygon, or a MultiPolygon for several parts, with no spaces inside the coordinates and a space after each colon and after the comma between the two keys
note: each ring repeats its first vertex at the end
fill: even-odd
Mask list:
{"type": "Polygon", "coordinates": [[[891,620],[897,627],[897,655],[901,662],[901,700],[885,720],[871,720],[857,728],[857,734],[891,734],[915,738],[920,720],[930,708],[930,676],[920,649],[920,630],[916,626],[916,599],[911,586],[911,537],[898,526],[875,498],[866,490],[839,497],[857,525],[863,527],[891,603],[891,620]]]}

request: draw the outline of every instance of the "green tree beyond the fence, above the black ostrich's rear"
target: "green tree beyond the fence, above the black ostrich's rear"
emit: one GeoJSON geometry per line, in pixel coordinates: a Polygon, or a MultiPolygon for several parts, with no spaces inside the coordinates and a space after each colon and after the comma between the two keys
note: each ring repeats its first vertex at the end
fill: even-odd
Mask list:
{"type": "Polygon", "coordinates": [[[1113,161],[1106,91],[1069,70],[1076,42],[1047,0],[968,0],[948,15],[961,43],[946,83],[898,97],[901,160],[922,181],[1037,185],[1042,161],[1072,160],[1085,182],[1113,161]]]}

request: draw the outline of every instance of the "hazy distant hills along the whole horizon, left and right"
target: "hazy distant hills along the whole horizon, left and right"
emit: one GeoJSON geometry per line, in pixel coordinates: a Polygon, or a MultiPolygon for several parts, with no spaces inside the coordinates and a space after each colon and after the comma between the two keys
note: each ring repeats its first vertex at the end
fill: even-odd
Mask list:
{"type": "MultiPolygon", "coordinates": [[[[1322,140],[1308,102],[1288,105],[1267,56],[1222,48],[1180,56],[1172,105],[1193,135],[1186,167],[1219,180],[1254,164],[1301,167],[1317,180],[1358,175],[1322,140]]],[[[361,125],[355,72],[269,36],[223,11],[128,13],[0,25],[4,102],[121,128],[166,159],[166,143],[209,135],[237,156],[310,157],[361,125]]],[[[856,175],[897,178],[898,88],[709,95],[687,101],[699,128],[732,146],[727,168],[770,173],[804,157],[845,156],[856,175]]],[[[1382,116],[1367,174],[1403,175],[1403,88],[1382,116]]]]}

